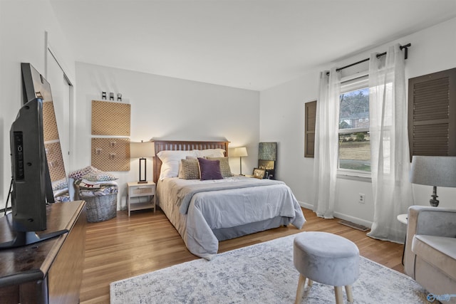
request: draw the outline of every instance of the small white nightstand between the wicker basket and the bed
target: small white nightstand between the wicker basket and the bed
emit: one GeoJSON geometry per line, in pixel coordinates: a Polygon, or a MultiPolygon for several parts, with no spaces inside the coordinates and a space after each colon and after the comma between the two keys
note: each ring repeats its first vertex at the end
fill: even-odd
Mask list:
{"type": "Polygon", "coordinates": [[[130,216],[131,211],[135,210],[144,210],[144,209],[154,209],[155,212],[155,183],[147,182],[143,184],[138,184],[138,182],[129,182],[128,186],[128,196],[127,196],[127,207],[128,207],[128,216],[130,216]],[[147,201],[141,201],[141,197],[145,196],[147,201]],[[138,202],[133,202],[133,197],[138,198],[138,202]]]}

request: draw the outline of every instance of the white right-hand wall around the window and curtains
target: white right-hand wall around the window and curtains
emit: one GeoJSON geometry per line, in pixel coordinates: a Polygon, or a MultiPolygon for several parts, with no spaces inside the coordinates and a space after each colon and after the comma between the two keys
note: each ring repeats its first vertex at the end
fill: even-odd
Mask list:
{"type": "MultiPolygon", "coordinates": [[[[301,78],[264,90],[260,95],[260,142],[278,142],[279,179],[290,185],[296,198],[313,206],[314,159],[304,157],[304,103],[316,100],[319,71],[368,58],[369,53],[386,51],[393,43],[412,43],[406,61],[406,78],[456,67],[456,19],[432,26],[412,35],[385,43],[343,61],[308,70],[301,78]]],[[[343,57],[344,54],[341,54],[343,57]]],[[[370,182],[339,178],[336,185],[336,216],[370,226],[373,221],[373,194],[370,182]],[[365,204],[358,193],[366,194],[365,204]]],[[[415,204],[429,205],[432,187],[413,185],[415,204]]],[[[440,206],[455,207],[456,189],[438,188],[440,206]]]]}

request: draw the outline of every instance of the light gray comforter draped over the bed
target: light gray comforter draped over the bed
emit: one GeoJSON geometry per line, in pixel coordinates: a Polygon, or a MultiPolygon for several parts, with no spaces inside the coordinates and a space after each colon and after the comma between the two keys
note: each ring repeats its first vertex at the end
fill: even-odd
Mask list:
{"type": "Polygon", "coordinates": [[[301,229],[301,206],[284,182],[249,177],[212,181],[170,178],[157,184],[157,203],[196,256],[212,259],[219,240],[213,230],[244,226],[281,217],[301,229]]]}

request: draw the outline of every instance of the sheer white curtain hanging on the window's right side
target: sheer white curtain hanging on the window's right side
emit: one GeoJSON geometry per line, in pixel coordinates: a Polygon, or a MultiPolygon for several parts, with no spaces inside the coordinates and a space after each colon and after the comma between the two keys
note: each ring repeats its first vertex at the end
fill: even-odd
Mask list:
{"type": "Polygon", "coordinates": [[[386,56],[371,54],[369,118],[374,216],[368,236],[403,243],[405,225],[396,219],[413,204],[405,100],[404,55],[399,45],[386,56]]]}

